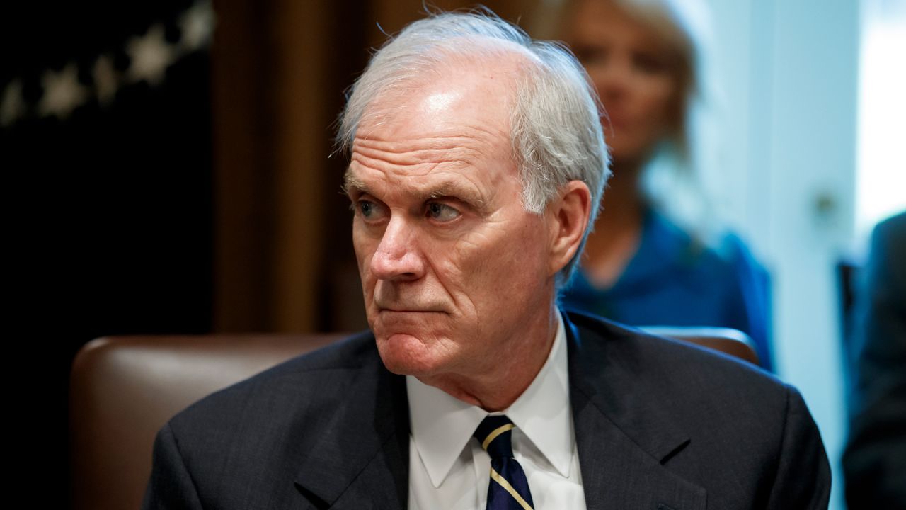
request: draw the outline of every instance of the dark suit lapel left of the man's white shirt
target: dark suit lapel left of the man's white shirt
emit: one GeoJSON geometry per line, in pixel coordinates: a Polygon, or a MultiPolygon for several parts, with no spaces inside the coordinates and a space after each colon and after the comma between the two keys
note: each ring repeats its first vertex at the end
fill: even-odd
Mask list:
{"type": "MultiPolygon", "coordinates": [[[[374,353],[375,358],[377,353],[374,353]]],[[[314,441],[296,487],[316,508],[400,508],[409,495],[409,409],[405,378],[368,363],[314,441]]],[[[331,391],[333,388],[324,388],[331,391]]]]}

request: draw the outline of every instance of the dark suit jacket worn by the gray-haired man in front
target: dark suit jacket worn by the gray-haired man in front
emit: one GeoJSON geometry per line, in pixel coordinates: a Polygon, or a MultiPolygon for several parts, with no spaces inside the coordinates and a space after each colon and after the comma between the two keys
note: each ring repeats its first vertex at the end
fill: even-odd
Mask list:
{"type": "MultiPolygon", "coordinates": [[[[588,508],[826,508],[827,457],[794,388],[602,319],[566,324],[588,508]]],[[[144,507],[405,509],[408,474],[405,378],[361,334],[174,417],[144,507]]]]}

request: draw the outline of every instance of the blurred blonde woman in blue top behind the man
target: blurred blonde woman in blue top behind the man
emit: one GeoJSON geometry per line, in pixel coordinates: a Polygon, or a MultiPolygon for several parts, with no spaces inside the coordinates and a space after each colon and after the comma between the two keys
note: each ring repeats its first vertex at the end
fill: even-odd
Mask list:
{"type": "Polygon", "coordinates": [[[695,170],[689,124],[703,99],[697,23],[707,13],[680,1],[564,5],[561,39],[601,96],[613,177],[563,303],[631,325],[740,329],[772,369],[766,271],[736,236],[706,243],[703,233],[680,228],[665,212],[679,193],[659,198],[643,185],[654,161],[689,178],[695,170]]]}

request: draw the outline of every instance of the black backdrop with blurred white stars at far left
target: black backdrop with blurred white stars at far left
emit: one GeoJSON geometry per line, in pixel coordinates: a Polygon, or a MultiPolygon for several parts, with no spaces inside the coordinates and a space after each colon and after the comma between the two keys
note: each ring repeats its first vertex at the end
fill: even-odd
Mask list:
{"type": "Polygon", "coordinates": [[[14,303],[5,314],[14,324],[6,373],[15,384],[6,416],[21,460],[14,473],[35,484],[42,506],[66,505],[76,350],[106,335],[211,329],[204,7],[156,0],[0,9],[5,289],[14,303]]]}

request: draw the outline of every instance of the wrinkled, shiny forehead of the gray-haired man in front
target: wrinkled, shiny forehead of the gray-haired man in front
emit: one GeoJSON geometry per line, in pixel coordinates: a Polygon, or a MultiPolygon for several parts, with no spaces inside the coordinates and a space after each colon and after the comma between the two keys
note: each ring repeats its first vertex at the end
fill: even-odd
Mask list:
{"type": "MultiPolygon", "coordinates": [[[[518,65],[513,59],[455,59],[369,104],[352,142],[347,183],[382,177],[419,181],[487,177],[501,166],[515,172],[510,113],[518,65]]],[[[427,184],[427,182],[426,182],[427,184]]]]}

